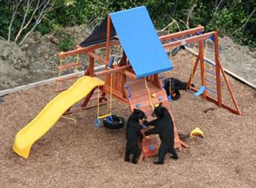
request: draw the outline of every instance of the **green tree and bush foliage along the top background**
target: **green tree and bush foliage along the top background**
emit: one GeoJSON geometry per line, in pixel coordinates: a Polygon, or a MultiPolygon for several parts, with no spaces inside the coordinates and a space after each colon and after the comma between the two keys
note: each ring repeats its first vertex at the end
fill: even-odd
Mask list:
{"type": "MultiPolygon", "coordinates": [[[[28,0],[0,0],[0,36],[8,39],[9,26],[15,7],[13,2],[22,1],[12,26],[10,40],[15,40],[26,14],[28,0]]],[[[28,15],[35,10],[36,3],[44,0],[31,0],[28,15]]],[[[201,24],[207,31],[217,30],[232,37],[240,44],[256,45],[256,1],[255,0],[50,0],[54,6],[44,14],[36,30],[47,34],[53,28],[85,25],[94,28],[108,12],[145,5],[158,30],[175,32],[201,24]]],[[[29,20],[26,18],[26,22],[29,20]]],[[[32,22],[36,21],[36,16],[32,22]]],[[[20,38],[31,30],[22,30],[20,38]]]]}

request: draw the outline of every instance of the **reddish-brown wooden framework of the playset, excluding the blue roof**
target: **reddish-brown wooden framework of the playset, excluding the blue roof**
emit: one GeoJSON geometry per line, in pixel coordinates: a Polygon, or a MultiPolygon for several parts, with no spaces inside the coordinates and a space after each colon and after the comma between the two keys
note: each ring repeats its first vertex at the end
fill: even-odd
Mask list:
{"type": "MultiPolygon", "coordinates": [[[[150,99],[151,94],[150,89],[148,89],[148,83],[150,83],[151,87],[151,92],[154,92],[158,94],[159,97],[162,97],[162,100],[164,102],[164,105],[168,108],[168,111],[170,112],[171,116],[171,109],[170,105],[168,105],[168,99],[166,96],[166,91],[163,90],[163,83],[160,81],[158,74],[154,74],[151,76],[146,77],[145,81],[145,86],[147,88],[146,90],[143,90],[143,92],[137,92],[137,90],[140,90],[141,87],[144,87],[143,85],[138,85],[139,82],[137,83],[137,76],[134,74],[131,65],[129,64],[129,61],[127,61],[127,57],[125,52],[123,51],[123,55],[121,58],[121,61],[119,62],[118,65],[113,65],[112,68],[109,68],[109,54],[110,54],[110,46],[119,44],[118,37],[115,37],[115,40],[110,41],[110,33],[111,33],[111,20],[110,16],[107,18],[107,26],[106,26],[106,42],[101,43],[101,44],[94,44],[90,45],[89,47],[85,48],[77,48],[73,51],[69,52],[61,52],[59,53],[60,58],[68,57],[68,56],[73,56],[77,53],[85,53],[86,55],[89,56],[89,67],[86,70],[85,74],[86,76],[91,76],[91,77],[104,77],[105,78],[105,85],[100,87],[101,90],[101,98],[100,98],[100,104],[99,105],[105,105],[108,103],[106,99],[106,94],[111,95],[117,99],[118,101],[121,101],[125,105],[129,105],[131,109],[137,107],[138,104],[142,103],[142,110],[145,113],[149,113],[150,110],[152,110],[151,106],[154,106],[154,104],[159,103],[159,98],[157,97],[156,99],[150,99]],[[103,57],[100,57],[97,55],[96,49],[100,48],[106,48],[106,54],[105,54],[105,59],[103,57]],[[94,67],[94,61],[100,61],[103,64],[105,64],[105,70],[102,70],[101,72],[94,73],[93,72],[93,67],[94,67]],[[110,83],[112,84],[112,89],[110,89],[110,83]],[[147,83],[148,82],[148,83],[147,83]],[[128,84],[133,85],[133,94],[132,96],[129,94],[131,91],[129,91],[129,87],[126,87],[128,84]],[[150,102],[148,102],[150,101],[150,102]],[[154,101],[154,104],[152,104],[152,101],[154,101]]],[[[194,43],[198,42],[199,43],[199,55],[196,58],[196,62],[192,68],[192,73],[191,76],[189,77],[188,80],[188,89],[191,89],[192,91],[197,91],[194,87],[191,87],[191,82],[192,78],[195,75],[196,68],[200,63],[200,76],[201,76],[201,85],[205,86],[206,85],[206,80],[205,80],[205,59],[204,59],[204,40],[209,39],[210,36],[213,36],[214,38],[214,52],[215,52],[215,62],[216,62],[216,83],[217,83],[217,100],[213,99],[212,97],[209,97],[207,90],[204,91],[204,93],[201,95],[204,99],[207,99],[210,102],[215,103],[219,107],[226,108],[230,112],[238,115],[242,115],[238,104],[236,102],[236,99],[234,98],[233,92],[231,90],[228,78],[225,75],[224,69],[222,68],[221,62],[220,62],[220,55],[219,55],[219,49],[218,49],[218,34],[216,31],[213,32],[208,32],[203,34],[204,32],[204,27],[199,26],[196,28],[192,28],[191,30],[185,30],[185,31],[180,31],[175,34],[169,34],[165,36],[160,36],[159,39],[164,43],[163,47],[164,49],[168,50],[170,48],[174,48],[180,45],[185,45],[188,43],[194,43]],[[174,41],[172,41],[174,40],[174,41]],[[227,105],[224,105],[222,103],[222,96],[221,96],[221,79],[220,76],[221,74],[224,76],[226,85],[228,87],[229,93],[232,97],[233,103],[236,106],[236,109],[231,108],[227,105]]],[[[141,83],[140,83],[141,84],[141,83]]],[[[95,90],[95,89],[94,89],[95,90]]],[[[88,108],[96,107],[96,105],[88,105],[89,101],[93,101],[96,98],[92,97],[94,90],[92,90],[82,101],[81,109],[86,110],[88,108]]],[[[111,101],[111,100],[110,100],[111,101]]],[[[76,110],[74,110],[76,111],[76,110]]],[[[70,108],[66,114],[69,114],[73,112],[72,109],[70,108]]],[[[151,114],[151,113],[150,113],[151,114]]],[[[174,122],[174,118],[172,116],[172,120],[174,122]]],[[[176,125],[174,122],[174,132],[175,132],[175,147],[176,148],[181,148],[181,147],[187,147],[187,144],[185,144],[183,141],[179,139],[179,135],[177,133],[176,125]]],[[[154,140],[155,138],[152,138],[154,140]]],[[[159,140],[159,139],[156,139],[159,140]]],[[[158,145],[158,141],[155,143],[158,145]]],[[[147,148],[145,150],[146,146],[142,146],[143,150],[143,155],[144,157],[148,156],[154,156],[155,154],[158,153],[158,148],[156,148],[154,151],[149,152],[147,151],[147,148]],[[144,151],[147,151],[146,153],[144,151]]],[[[141,156],[141,159],[143,158],[143,155],[141,156]]]]}

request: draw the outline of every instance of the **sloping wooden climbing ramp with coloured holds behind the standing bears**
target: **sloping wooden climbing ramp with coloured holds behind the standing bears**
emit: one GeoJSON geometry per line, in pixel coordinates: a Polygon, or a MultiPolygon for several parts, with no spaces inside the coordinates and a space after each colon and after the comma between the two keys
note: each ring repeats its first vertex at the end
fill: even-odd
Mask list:
{"type": "MultiPolygon", "coordinates": [[[[143,78],[138,80],[128,80],[126,85],[127,90],[127,98],[129,98],[130,108],[133,110],[134,108],[138,108],[142,110],[147,115],[147,120],[153,120],[152,107],[149,101],[148,91],[145,87],[145,83],[143,78]]],[[[148,89],[150,90],[151,101],[154,106],[157,106],[160,102],[163,103],[163,106],[168,109],[171,114],[170,103],[168,102],[166,91],[164,89],[159,89],[153,83],[147,82],[148,89]]],[[[171,114],[172,116],[172,114],[171,114]]],[[[174,119],[172,117],[172,121],[174,119]]],[[[142,133],[147,131],[152,127],[147,127],[141,130],[142,133]]],[[[174,122],[174,135],[175,135],[175,148],[187,147],[183,141],[179,139],[179,135],[177,133],[176,124],[174,122]]],[[[141,148],[143,152],[143,157],[148,158],[152,156],[156,156],[158,154],[158,149],[160,146],[160,139],[158,135],[150,135],[147,139],[143,137],[141,142],[141,148]]],[[[141,158],[141,160],[142,160],[141,158]]]]}

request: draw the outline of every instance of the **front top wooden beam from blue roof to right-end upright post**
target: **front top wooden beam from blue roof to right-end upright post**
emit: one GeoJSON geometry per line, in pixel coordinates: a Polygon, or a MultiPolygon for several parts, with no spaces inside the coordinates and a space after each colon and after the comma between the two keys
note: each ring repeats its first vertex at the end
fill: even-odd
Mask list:
{"type": "Polygon", "coordinates": [[[189,37],[187,39],[182,39],[182,40],[177,40],[177,41],[173,41],[171,43],[167,43],[164,44],[163,47],[164,49],[169,49],[169,48],[173,48],[173,47],[177,47],[184,44],[188,44],[188,43],[194,43],[196,41],[200,41],[200,40],[206,40],[208,39],[210,36],[212,36],[213,34],[215,34],[215,31],[213,32],[208,32],[207,34],[202,34],[202,35],[197,35],[197,36],[192,36],[189,37]],[[181,44],[182,43],[182,44],[181,44]]]}

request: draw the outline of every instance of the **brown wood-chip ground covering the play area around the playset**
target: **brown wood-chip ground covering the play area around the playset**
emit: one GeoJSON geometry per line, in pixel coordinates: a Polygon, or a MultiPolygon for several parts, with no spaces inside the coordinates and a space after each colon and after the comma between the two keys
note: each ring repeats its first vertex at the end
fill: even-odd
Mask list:
{"type": "MultiPolygon", "coordinates": [[[[174,59],[175,77],[188,79],[191,59],[185,53],[174,59]]],[[[77,124],[61,118],[24,160],[12,151],[15,134],[54,97],[55,85],[6,95],[0,105],[1,187],[256,187],[256,92],[230,82],[243,116],[187,91],[171,103],[179,133],[199,126],[205,137],[187,139],[189,148],[178,151],[179,160],[167,156],[160,166],[152,164],[156,157],[124,162],[124,129],[94,127],[95,108],[69,115],[77,124]]],[[[122,106],[122,115],[129,113],[122,106]]]]}

